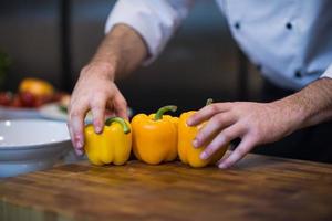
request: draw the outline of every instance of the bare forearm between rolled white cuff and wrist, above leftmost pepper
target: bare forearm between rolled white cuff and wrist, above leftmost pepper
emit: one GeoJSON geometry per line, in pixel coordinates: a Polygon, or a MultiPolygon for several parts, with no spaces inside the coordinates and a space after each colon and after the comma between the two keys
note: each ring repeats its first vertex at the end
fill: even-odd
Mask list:
{"type": "Polygon", "coordinates": [[[147,56],[141,35],[125,24],[117,24],[104,38],[91,63],[98,63],[112,80],[133,72],[147,56]],[[116,76],[115,76],[116,75],[116,76]]]}

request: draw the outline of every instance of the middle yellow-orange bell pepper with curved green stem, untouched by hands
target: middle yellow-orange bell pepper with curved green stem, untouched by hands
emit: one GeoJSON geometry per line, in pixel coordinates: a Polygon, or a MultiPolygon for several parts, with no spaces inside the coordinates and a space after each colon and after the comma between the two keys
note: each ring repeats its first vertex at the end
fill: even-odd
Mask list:
{"type": "Polygon", "coordinates": [[[164,115],[176,109],[176,106],[169,105],[159,108],[156,114],[138,114],[133,117],[133,150],[137,159],[158,165],[177,157],[178,117],[164,115]]]}

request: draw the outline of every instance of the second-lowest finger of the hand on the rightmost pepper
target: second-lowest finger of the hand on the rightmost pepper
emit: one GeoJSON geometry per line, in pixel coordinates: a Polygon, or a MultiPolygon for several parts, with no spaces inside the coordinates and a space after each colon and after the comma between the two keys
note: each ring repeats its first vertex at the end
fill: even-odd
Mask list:
{"type": "Polygon", "coordinates": [[[219,148],[229,144],[232,139],[240,137],[242,128],[238,125],[230,126],[225,130],[220,131],[215,139],[206,147],[200,154],[201,159],[211,157],[219,148]]]}

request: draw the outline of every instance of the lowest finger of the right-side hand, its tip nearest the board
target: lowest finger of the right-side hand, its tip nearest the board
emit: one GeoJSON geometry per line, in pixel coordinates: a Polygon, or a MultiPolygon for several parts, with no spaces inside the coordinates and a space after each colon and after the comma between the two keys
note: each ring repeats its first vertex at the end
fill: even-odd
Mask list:
{"type": "Polygon", "coordinates": [[[218,167],[226,169],[242,159],[255,146],[255,139],[245,137],[239,146],[227,157],[220,160],[218,167]]]}

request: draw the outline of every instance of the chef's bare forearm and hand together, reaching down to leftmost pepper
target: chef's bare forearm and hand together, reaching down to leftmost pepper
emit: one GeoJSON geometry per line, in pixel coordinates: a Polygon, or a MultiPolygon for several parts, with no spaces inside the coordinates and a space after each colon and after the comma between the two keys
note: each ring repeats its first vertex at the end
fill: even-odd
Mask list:
{"type": "Polygon", "coordinates": [[[127,104],[114,78],[132,73],[147,57],[141,35],[126,24],[115,25],[104,38],[91,63],[80,74],[69,106],[69,130],[77,155],[83,154],[84,117],[93,115],[96,133],[104,126],[105,109],[127,118],[127,104]]]}

